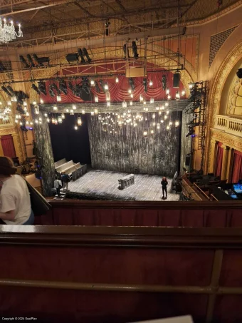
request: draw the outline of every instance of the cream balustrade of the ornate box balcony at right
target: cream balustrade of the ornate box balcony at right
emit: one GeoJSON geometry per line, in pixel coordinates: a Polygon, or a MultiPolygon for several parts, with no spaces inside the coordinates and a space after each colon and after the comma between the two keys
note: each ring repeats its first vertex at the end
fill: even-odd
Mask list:
{"type": "Polygon", "coordinates": [[[231,133],[231,135],[242,136],[242,119],[217,115],[214,128],[231,133]]]}

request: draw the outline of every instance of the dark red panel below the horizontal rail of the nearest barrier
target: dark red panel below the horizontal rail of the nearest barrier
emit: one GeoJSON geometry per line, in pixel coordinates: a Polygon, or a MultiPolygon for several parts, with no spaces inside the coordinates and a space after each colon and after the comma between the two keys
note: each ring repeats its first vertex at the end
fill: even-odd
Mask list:
{"type": "Polygon", "coordinates": [[[206,295],[1,287],[0,312],[36,322],[127,323],[191,314],[204,323],[206,295]]]}

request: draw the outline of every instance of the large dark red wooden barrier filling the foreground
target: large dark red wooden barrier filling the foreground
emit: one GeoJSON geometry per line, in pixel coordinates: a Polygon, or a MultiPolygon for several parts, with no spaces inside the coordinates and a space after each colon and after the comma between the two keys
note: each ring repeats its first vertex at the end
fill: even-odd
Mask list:
{"type": "Polygon", "coordinates": [[[7,225],[0,245],[2,317],[242,322],[242,228],[7,225]]]}

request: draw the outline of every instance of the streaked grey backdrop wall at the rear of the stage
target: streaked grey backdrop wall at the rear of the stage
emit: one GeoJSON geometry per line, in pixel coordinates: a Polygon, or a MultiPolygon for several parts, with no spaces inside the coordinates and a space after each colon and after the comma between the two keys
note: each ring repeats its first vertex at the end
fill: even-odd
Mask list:
{"type": "MultiPolygon", "coordinates": [[[[174,127],[181,113],[171,113],[173,123],[171,130],[167,130],[167,121],[160,124],[160,130],[152,123],[159,122],[163,116],[144,113],[147,121],[137,121],[137,127],[132,125],[117,125],[114,131],[103,130],[98,116],[89,116],[88,130],[90,138],[91,160],[93,168],[113,170],[124,173],[146,173],[173,177],[179,168],[180,128],[174,127]],[[144,130],[154,129],[154,135],[144,137],[144,130]],[[115,133],[115,131],[117,133],[115,133]]],[[[164,113],[163,113],[164,114],[164,113]]],[[[112,130],[112,129],[111,129],[112,130]]]]}

